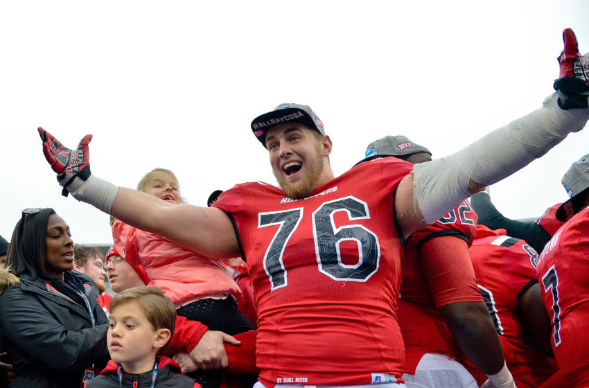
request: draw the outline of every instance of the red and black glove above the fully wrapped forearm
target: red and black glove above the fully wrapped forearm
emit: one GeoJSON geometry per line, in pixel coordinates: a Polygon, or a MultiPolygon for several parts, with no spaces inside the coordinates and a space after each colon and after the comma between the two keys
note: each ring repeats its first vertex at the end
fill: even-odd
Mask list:
{"type": "Polygon", "coordinates": [[[579,54],[577,37],[570,28],[563,31],[565,48],[559,55],[560,78],[554,81],[559,92],[561,109],[586,108],[589,106],[589,53],[579,54]]]}

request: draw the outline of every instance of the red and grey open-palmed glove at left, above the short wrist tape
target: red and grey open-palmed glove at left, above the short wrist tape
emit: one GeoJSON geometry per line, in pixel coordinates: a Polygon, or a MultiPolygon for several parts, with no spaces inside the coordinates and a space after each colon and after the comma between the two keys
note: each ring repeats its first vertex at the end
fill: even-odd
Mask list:
{"type": "Polygon", "coordinates": [[[52,134],[39,127],[39,136],[43,141],[43,154],[45,159],[58,174],[58,181],[64,187],[62,195],[67,197],[67,186],[71,184],[73,178],[80,177],[83,180],[90,176],[90,153],[88,144],[92,140],[92,135],[87,134],[84,139],[80,140],[76,150],[70,150],[55,139],[52,134]],[[64,179],[67,178],[67,181],[64,179]]]}

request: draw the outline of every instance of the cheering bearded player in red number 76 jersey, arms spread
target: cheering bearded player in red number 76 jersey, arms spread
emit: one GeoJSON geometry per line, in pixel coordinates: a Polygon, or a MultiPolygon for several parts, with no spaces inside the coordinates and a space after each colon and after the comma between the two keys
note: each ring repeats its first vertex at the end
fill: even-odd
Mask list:
{"type": "MultiPolygon", "coordinates": [[[[378,159],[335,177],[323,123],[305,105],[280,105],[254,119],[252,130],[281,188],[240,184],[212,208],[172,206],[91,175],[91,136],[69,150],[42,128],[39,134],[66,193],[203,256],[247,261],[258,307],[258,384],[399,388],[400,236],[586,125],[588,98],[564,82],[577,79],[569,67],[580,55],[572,31],[564,37],[558,94],[455,155],[415,167],[378,159]]],[[[587,78],[578,80],[589,89],[587,78]]],[[[513,387],[507,367],[491,373],[485,387],[513,387]]]]}

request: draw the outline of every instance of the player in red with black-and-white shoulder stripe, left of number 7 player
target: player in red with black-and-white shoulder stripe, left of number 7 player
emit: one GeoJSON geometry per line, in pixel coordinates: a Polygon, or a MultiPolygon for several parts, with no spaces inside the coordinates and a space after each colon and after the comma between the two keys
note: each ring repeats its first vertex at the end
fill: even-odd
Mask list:
{"type": "Polygon", "coordinates": [[[523,337],[525,333],[536,340],[536,349],[552,353],[550,321],[536,280],[538,254],[524,240],[507,236],[504,229],[483,225],[477,225],[470,252],[480,292],[516,385],[540,387],[555,370],[547,357],[529,349],[523,337]],[[537,335],[542,329],[543,335],[537,335]]]}

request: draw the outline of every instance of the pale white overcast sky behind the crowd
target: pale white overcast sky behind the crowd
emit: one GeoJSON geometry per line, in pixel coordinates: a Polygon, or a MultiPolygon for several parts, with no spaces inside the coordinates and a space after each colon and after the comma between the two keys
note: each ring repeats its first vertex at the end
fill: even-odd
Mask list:
{"type": "MultiPolygon", "coordinates": [[[[60,196],[40,125],[75,146],[94,134],[93,173],[135,187],[159,167],[204,205],[238,182],[274,184],[249,130],[284,102],[324,122],[337,175],[386,134],[434,157],[540,106],[558,77],[562,30],[589,51],[589,1],[3,1],[0,235],[51,206],[78,243],[110,243],[107,215],[60,196]]],[[[560,179],[589,130],[491,188],[505,215],[566,199],[560,179]]]]}

